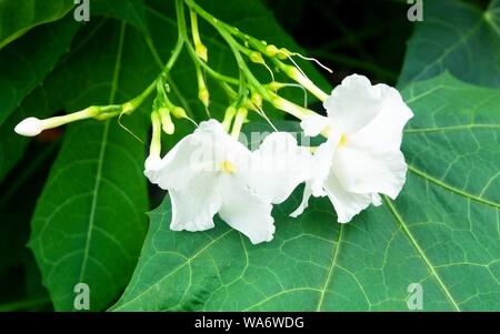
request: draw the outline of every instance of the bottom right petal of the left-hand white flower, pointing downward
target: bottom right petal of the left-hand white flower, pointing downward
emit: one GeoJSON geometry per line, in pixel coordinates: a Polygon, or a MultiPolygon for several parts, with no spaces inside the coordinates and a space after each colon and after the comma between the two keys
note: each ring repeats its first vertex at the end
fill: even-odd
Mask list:
{"type": "Polygon", "coordinates": [[[236,175],[222,176],[220,217],[247,235],[253,244],[271,241],[274,234],[272,205],[258,198],[236,175]]]}

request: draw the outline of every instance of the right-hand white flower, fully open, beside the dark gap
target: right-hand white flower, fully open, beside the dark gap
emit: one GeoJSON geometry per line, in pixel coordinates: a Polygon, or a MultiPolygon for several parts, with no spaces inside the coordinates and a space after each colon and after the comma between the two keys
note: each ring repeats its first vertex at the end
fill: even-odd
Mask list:
{"type": "Polygon", "coordinates": [[[381,205],[380,193],[398,196],[407,173],[402,130],[413,113],[396,89],[371,85],[357,74],[346,78],[323,105],[328,118],[301,123],[307,135],[328,132],[329,138],[314,152],[313,178],[292,216],[302,213],[311,195],[328,195],[339,223],[347,223],[370,204],[381,205]]]}

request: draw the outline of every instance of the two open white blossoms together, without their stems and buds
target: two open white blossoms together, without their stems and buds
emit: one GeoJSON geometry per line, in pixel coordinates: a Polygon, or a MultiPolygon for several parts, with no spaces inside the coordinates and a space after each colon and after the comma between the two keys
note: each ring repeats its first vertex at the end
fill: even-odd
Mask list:
{"type": "Polygon", "coordinates": [[[270,241],[272,204],[282,203],[306,182],[303,201],[328,196],[340,223],[347,223],[380,194],[398,196],[407,164],[400,152],[402,129],[412,117],[397,90],[371,85],[351,75],[324,102],[328,118],[304,118],[308,135],[328,140],[313,154],[293,136],[274,132],[251,152],[216,120],[200,124],[163,159],[147,163],[146,175],[169,191],[174,231],[213,227],[213,216],[246,234],[252,243],[270,241]]]}

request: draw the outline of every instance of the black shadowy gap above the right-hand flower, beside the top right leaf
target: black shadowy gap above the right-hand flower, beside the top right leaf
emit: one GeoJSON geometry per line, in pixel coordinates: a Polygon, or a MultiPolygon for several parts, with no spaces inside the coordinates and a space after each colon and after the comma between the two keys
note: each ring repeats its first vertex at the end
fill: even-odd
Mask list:
{"type": "MultiPolygon", "coordinates": [[[[414,0],[412,0],[414,1],[414,0]]],[[[343,78],[396,85],[414,24],[407,0],[266,0],[296,41],[343,78]]],[[[488,8],[488,0],[468,0],[488,8]]],[[[426,12],[426,0],[423,0],[426,12]]],[[[331,75],[330,75],[331,77],[331,75]]],[[[339,83],[339,82],[332,82],[339,83]]]]}

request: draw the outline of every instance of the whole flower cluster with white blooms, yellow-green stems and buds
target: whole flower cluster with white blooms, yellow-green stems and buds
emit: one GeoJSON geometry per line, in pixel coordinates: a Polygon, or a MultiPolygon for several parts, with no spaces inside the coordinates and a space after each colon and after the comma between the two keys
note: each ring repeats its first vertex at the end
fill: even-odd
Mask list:
{"type": "Polygon", "coordinates": [[[306,75],[293,57],[319,63],[316,59],[252,38],[218,20],[194,0],[176,0],[176,10],[178,42],[163,70],[142,93],[122,104],[92,105],[46,120],[28,118],[16,126],[16,132],[33,136],[74,121],[130,115],[156,92],[150,109],[152,135],[144,174],[150,182],[168,190],[172,203],[170,227],[174,231],[211,229],[213,216],[219,214],[252,243],[270,241],[274,233],[272,205],[284,202],[301,183],[304,183],[303,199],[292,216],[307,209],[310,196],[328,196],[338,221],[347,223],[370,204],[381,205],[381,194],[398,196],[407,172],[400,151],[402,130],[412,112],[396,89],[372,85],[367,78],[354,74],[328,95],[306,75]],[[232,51],[238,78],[210,65],[198,17],[232,51]],[[230,102],[220,122],[209,117],[197,124],[191,114],[174,104],[169,74],[183,49],[194,65],[193,82],[201,105],[207,111],[211,108],[207,77],[227,93],[230,102]],[[251,65],[264,67],[271,72],[272,81],[261,83],[251,65]],[[274,71],[293,82],[274,81],[274,71]],[[322,101],[327,117],[279,94],[290,85],[299,85],[322,101]],[[276,130],[257,150],[250,151],[238,139],[250,112],[270,122],[263,111],[264,103],[299,119],[308,136],[322,135],[326,141],[317,148],[302,146],[290,133],[276,130]],[[174,133],[176,119],[188,119],[197,129],[162,158],[161,136],[174,133]]]}

